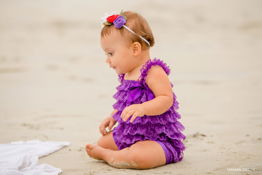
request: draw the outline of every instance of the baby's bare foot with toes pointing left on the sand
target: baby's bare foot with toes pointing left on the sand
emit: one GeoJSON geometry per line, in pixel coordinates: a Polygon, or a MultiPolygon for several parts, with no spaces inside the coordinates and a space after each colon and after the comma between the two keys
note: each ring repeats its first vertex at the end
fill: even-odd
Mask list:
{"type": "Polygon", "coordinates": [[[102,148],[98,145],[93,144],[86,144],[86,153],[89,157],[96,159],[96,160],[104,160],[103,155],[106,149],[102,148]]]}

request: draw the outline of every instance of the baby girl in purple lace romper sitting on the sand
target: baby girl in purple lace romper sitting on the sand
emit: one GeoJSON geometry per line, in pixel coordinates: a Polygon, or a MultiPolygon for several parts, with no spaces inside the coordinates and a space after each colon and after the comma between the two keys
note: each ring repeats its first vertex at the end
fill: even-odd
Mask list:
{"type": "Polygon", "coordinates": [[[97,145],[86,144],[87,154],[125,169],[149,169],[182,160],[185,128],[178,121],[169,66],[150,58],[155,41],[148,22],[131,11],[106,13],[102,19],[100,44],[120,85],[113,96],[117,100],[114,111],[99,127],[102,137],[97,145]]]}

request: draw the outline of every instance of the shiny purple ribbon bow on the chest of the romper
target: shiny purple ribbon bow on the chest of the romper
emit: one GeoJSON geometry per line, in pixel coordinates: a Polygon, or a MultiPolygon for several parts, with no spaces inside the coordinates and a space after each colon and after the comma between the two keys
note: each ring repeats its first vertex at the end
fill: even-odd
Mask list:
{"type": "Polygon", "coordinates": [[[143,84],[140,83],[135,83],[132,86],[130,86],[128,88],[128,90],[130,91],[129,96],[128,96],[128,100],[126,101],[127,103],[130,103],[132,101],[134,101],[135,99],[137,99],[139,96],[141,96],[141,94],[146,90],[146,95],[147,95],[147,99],[149,100],[153,100],[155,98],[154,93],[151,91],[151,89],[149,89],[149,87],[147,86],[146,88],[144,88],[143,84]]]}

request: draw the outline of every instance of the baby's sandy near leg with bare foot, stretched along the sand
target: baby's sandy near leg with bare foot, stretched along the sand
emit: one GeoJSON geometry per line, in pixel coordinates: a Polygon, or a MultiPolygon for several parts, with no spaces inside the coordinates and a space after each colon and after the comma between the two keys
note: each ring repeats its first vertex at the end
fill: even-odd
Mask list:
{"type": "Polygon", "coordinates": [[[104,149],[98,145],[86,144],[87,154],[109,165],[125,169],[149,169],[165,165],[166,156],[160,144],[154,141],[138,141],[120,151],[104,149]]]}

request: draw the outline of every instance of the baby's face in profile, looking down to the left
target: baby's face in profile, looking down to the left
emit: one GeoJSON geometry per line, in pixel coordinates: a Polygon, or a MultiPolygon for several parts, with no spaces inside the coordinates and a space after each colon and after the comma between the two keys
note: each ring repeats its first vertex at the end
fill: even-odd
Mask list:
{"type": "Polygon", "coordinates": [[[133,47],[127,47],[125,40],[116,30],[113,30],[110,36],[100,38],[100,45],[107,55],[106,62],[109,63],[109,67],[116,70],[117,74],[128,73],[136,65],[133,47]]]}

